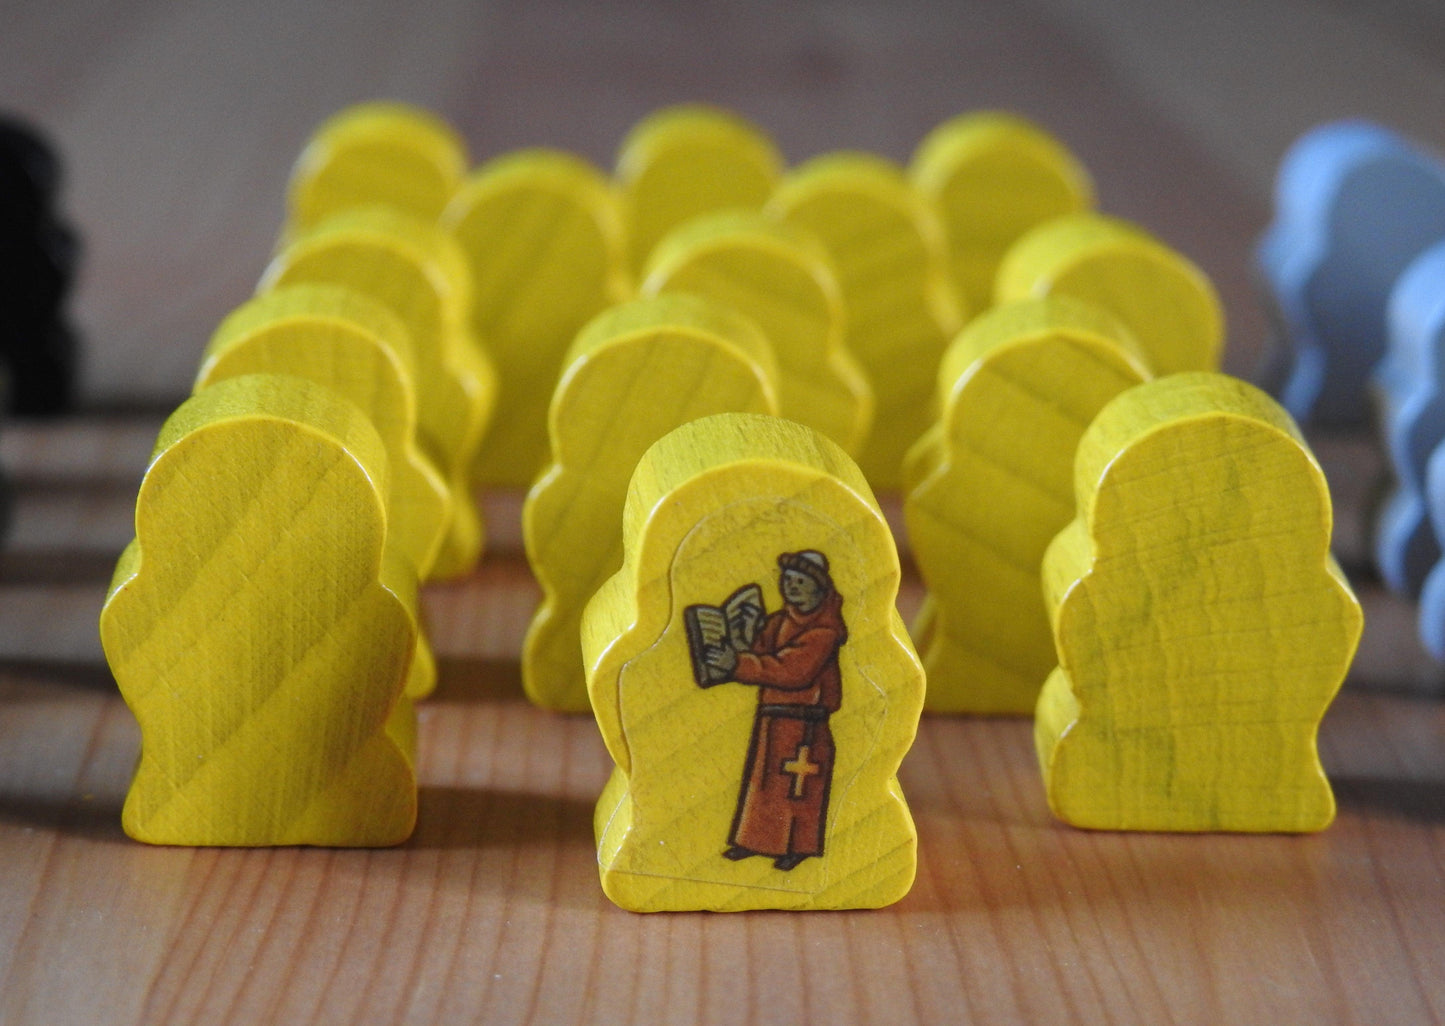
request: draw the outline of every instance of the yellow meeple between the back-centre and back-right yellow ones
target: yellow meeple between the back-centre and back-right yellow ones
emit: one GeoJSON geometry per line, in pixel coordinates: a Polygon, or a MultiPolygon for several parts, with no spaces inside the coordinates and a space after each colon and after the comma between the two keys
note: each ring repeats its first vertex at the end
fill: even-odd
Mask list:
{"type": "Polygon", "coordinates": [[[867,153],[801,165],[767,210],[811,231],[832,257],[845,342],[876,403],[858,465],[874,488],[897,490],[903,455],[936,415],[938,361],[964,321],[938,212],[902,171],[867,153]]]}

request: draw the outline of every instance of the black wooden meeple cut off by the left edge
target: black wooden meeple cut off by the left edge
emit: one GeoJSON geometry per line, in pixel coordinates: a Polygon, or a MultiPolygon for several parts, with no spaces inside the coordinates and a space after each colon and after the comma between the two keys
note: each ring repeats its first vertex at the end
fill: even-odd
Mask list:
{"type": "Polygon", "coordinates": [[[59,162],[40,133],[0,116],[0,361],[16,413],[59,412],[75,392],[65,296],[79,240],[56,211],[59,184],[59,162]]]}

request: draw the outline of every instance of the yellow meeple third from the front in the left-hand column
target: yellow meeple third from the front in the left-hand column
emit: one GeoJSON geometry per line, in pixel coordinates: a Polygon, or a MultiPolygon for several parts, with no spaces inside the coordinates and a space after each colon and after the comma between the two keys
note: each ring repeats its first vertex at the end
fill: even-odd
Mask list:
{"type": "Polygon", "coordinates": [[[298,236],[266,267],[257,290],[308,282],[355,289],[406,325],[416,358],[420,445],[452,494],[452,517],[434,572],[465,574],[483,546],[471,465],[497,390],[496,370],[468,325],[465,254],[432,224],[360,208],[298,236]]]}

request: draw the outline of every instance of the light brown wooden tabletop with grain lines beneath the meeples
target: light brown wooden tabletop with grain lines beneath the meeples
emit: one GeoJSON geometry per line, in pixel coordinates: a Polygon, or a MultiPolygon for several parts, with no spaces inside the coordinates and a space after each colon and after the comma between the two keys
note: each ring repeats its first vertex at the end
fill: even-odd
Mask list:
{"type": "MultiPolygon", "coordinates": [[[[158,429],[0,435],[17,490],[0,553],[6,1022],[1445,1017],[1445,705],[1438,678],[1412,678],[1413,610],[1368,584],[1360,658],[1321,725],[1340,812],[1315,835],[1075,831],[1048,811],[1027,723],[925,717],[899,770],[919,871],[897,905],[824,931],[623,912],[591,835],[611,763],[595,727],[522,695],[538,588],[493,552],[423,592],[441,684],[419,707],[406,845],[129,842],[139,736],[95,614],[158,429]]],[[[905,565],[902,613],[919,598],[905,565]]]]}

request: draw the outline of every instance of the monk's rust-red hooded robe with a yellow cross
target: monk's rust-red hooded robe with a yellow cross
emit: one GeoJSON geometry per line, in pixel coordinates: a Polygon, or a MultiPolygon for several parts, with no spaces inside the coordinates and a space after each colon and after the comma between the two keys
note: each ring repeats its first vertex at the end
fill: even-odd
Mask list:
{"type": "Polygon", "coordinates": [[[812,613],[783,605],[763,623],[733,678],[757,685],[753,740],[728,844],[763,855],[821,855],[832,785],[828,715],[842,704],[842,597],[812,613]]]}

